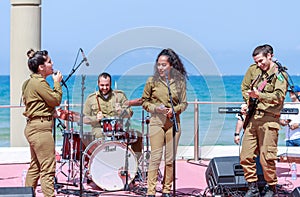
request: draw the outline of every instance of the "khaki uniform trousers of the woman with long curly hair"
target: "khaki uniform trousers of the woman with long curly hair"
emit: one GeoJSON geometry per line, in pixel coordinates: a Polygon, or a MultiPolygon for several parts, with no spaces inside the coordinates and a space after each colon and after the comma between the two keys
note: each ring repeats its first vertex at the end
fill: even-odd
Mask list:
{"type": "MultiPolygon", "coordinates": [[[[180,124],[178,123],[178,128],[180,124]]],[[[176,150],[181,131],[175,135],[176,150]]],[[[163,178],[163,193],[170,193],[173,181],[173,127],[164,130],[161,126],[150,125],[151,155],[148,168],[148,195],[155,195],[158,178],[158,169],[162,160],[163,148],[165,146],[165,167],[163,178]]],[[[175,159],[175,158],[174,158],[175,159]]]]}

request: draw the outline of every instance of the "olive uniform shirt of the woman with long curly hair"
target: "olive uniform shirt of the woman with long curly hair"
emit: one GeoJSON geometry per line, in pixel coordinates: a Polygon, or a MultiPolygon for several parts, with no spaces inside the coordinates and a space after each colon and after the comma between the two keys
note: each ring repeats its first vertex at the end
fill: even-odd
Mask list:
{"type": "MultiPolygon", "coordinates": [[[[179,114],[181,114],[188,105],[186,101],[185,81],[180,81],[178,87],[175,84],[175,80],[171,79],[170,90],[174,111],[176,113],[176,120],[179,123],[179,114]]],[[[164,80],[159,78],[158,81],[153,81],[153,77],[149,77],[144,87],[142,99],[144,109],[151,113],[150,125],[164,126],[165,124],[172,124],[165,115],[155,112],[155,108],[160,105],[171,108],[168,85],[164,80]]]]}

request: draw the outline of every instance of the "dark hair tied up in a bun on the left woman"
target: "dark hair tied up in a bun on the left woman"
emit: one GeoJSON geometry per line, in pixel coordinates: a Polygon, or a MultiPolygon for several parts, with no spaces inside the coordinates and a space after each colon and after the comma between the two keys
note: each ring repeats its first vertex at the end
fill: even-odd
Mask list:
{"type": "Polygon", "coordinates": [[[37,73],[39,65],[43,65],[47,61],[48,51],[34,51],[30,49],[27,51],[28,56],[28,68],[33,72],[37,73]]]}

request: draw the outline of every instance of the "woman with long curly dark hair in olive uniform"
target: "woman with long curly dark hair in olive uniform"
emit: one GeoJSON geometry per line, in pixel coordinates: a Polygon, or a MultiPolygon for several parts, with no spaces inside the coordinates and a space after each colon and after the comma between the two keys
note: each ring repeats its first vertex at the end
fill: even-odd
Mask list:
{"type": "MultiPolygon", "coordinates": [[[[156,193],[158,170],[165,147],[165,170],[162,196],[170,197],[173,181],[173,138],[177,148],[181,134],[180,114],[186,109],[186,79],[187,73],[179,56],[172,49],[163,49],[157,56],[154,75],[149,77],[143,92],[143,107],[151,113],[150,145],[151,156],[148,168],[149,197],[156,193]],[[167,80],[168,79],[168,80],[167,80]],[[169,81],[169,84],[168,84],[169,81]],[[172,94],[171,106],[168,85],[172,94]],[[173,137],[173,114],[175,114],[178,131],[173,137]]],[[[176,150],[174,150],[176,152],[176,150]]]]}

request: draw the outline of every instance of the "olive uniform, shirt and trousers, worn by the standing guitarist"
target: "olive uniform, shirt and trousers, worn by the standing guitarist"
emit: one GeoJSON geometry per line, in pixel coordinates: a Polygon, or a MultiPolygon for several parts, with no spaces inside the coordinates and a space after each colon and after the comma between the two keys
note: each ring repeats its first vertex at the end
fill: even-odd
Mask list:
{"type": "Polygon", "coordinates": [[[276,65],[267,72],[262,72],[256,64],[251,65],[241,84],[245,101],[249,100],[247,91],[250,89],[251,82],[259,75],[261,77],[258,78],[257,85],[255,85],[257,89],[267,77],[273,75],[273,78],[259,93],[254,115],[245,129],[240,154],[241,165],[246,181],[257,181],[255,158],[260,155],[264,178],[269,185],[275,185],[277,184],[275,161],[277,159],[278,130],[280,129],[279,117],[287,91],[287,81],[284,79],[287,76],[286,73],[278,72],[276,65]]]}

